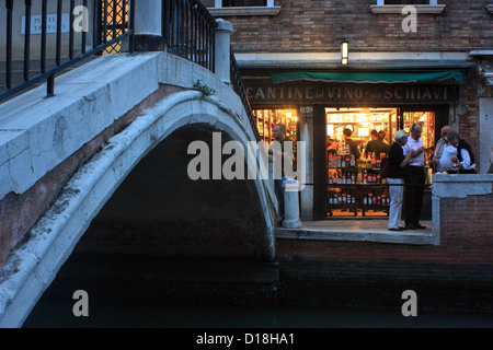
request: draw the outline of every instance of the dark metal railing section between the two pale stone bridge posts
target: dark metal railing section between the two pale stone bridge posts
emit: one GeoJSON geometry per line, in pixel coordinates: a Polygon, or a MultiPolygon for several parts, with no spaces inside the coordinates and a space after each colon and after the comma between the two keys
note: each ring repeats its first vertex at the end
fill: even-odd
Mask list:
{"type": "Polygon", "coordinates": [[[216,20],[198,0],[162,0],[168,51],[215,71],[216,20]]]}

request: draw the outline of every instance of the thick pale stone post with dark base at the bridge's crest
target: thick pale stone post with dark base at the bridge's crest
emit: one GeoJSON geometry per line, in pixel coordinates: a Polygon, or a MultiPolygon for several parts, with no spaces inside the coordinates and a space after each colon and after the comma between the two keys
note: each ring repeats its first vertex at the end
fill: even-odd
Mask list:
{"type": "Polygon", "coordinates": [[[135,7],[135,51],[164,51],[161,9],[161,0],[139,1],[135,7]]]}

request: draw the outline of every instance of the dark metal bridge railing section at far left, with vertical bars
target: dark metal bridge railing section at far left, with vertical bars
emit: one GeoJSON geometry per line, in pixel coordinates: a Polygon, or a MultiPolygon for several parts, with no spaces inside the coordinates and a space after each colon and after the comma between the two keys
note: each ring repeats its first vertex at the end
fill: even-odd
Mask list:
{"type": "MultiPolygon", "coordinates": [[[[35,2],[38,4],[39,1],[35,2]]],[[[54,95],[55,74],[65,70],[83,59],[100,54],[107,47],[111,47],[117,43],[121,43],[124,38],[129,37],[134,32],[134,0],[70,0],[69,3],[69,23],[68,28],[62,28],[64,22],[64,1],[62,0],[42,0],[41,1],[41,37],[39,47],[37,48],[39,55],[39,73],[31,77],[30,70],[33,68],[31,65],[34,62],[32,52],[32,20],[33,20],[33,1],[25,0],[13,1],[5,0],[4,9],[5,14],[5,27],[7,27],[7,40],[5,40],[5,88],[7,90],[0,92],[0,102],[27,90],[37,83],[44,81],[47,82],[47,96],[54,95]],[[13,74],[13,14],[15,7],[24,5],[24,49],[23,49],[23,82],[14,84],[12,80],[13,74]],[[55,3],[56,2],[56,3],[55,3]],[[51,52],[48,52],[48,4],[56,4],[56,28],[53,28],[53,34],[56,35],[55,48],[51,52]],[[89,13],[88,5],[91,4],[92,13],[89,13]],[[119,4],[119,11],[118,9],[119,4]],[[79,7],[81,14],[76,18],[74,10],[79,7]],[[82,8],[80,8],[82,7],[82,8]],[[111,8],[113,11],[108,12],[111,8]],[[102,11],[103,10],[103,11],[102,11]],[[104,15],[103,15],[104,13],[104,15]],[[89,18],[87,18],[89,16],[89,18]],[[118,19],[118,21],[117,21],[118,19]],[[92,21],[92,27],[88,27],[88,23],[92,21]],[[119,23],[118,23],[119,22],[119,23]],[[76,28],[78,23],[78,28],[76,28]],[[80,28],[79,26],[82,26],[80,28]],[[79,32],[79,33],[77,33],[79,32]],[[68,33],[67,39],[62,38],[62,33],[68,33]],[[77,33],[77,34],[76,34],[77,33]],[[88,47],[89,35],[92,37],[92,45],[88,47]],[[77,36],[77,39],[76,39],[77,36]],[[80,42],[80,48],[76,47],[76,43],[80,42]],[[65,52],[62,56],[62,51],[65,52]],[[48,68],[48,59],[55,61],[54,67],[48,68]]],[[[39,16],[39,15],[38,15],[39,16]]],[[[53,20],[53,18],[50,18],[53,20]]],[[[64,36],[66,36],[65,34],[64,36]]],[[[34,45],[33,45],[34,46],[34,45]]],[[[49,45],[51,46],[51,45],[49,45]]],[[[133,45],[130,44],[130,49],[133,45]]]]}

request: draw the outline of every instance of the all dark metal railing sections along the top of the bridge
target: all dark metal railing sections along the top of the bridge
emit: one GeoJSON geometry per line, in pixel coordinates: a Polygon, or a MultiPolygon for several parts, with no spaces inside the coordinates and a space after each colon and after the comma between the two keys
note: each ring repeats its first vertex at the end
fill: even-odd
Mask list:
{"type": "MultiPolygon", "coordinates": [[[[159,1],[165,49],[215,72],[216,20],[198,0],[158,0],[158,4],[159,1]]],[[[7,30],[5,45],[0,45],[0,57],[5,58],[3,77],[7,90],[1,91],[0,86],[0,103],[45,81],[47,96],[53,96],[57,73],[90,56],[122,45],[124,40],[128,40],[128,50],[131,52],[138,35],[135,31],[135,7],[139,4],[142,3],[136,0],[5,0],[1,8],[0,3],[0,18],[5,18],[7,30]],[[48,10],[51,13],[54,9],[56,14],[48,14],[48,10]],[[2,13],[2,10],[5,12],[2,13]],[[22,33],[19,35],[13,33],[13,28],[21,24],[21,16],[22,33]],[[53,36],[49,40],[48,34],[53,36]],[[20,37],[23,38],[23,46],[18,43],[20,37]],[[13,63],[19,65],[20,61],[23,62],[22,82],[14,83],[13,63]],[[33,70],[36,73],[32,73],[33,70]]],[[[0,43],[2,40],[0,38],[0,43]]],[[[260,140],[231,48],[229,60],[232,89],[240,96],[253,132],[260,140]]]]}

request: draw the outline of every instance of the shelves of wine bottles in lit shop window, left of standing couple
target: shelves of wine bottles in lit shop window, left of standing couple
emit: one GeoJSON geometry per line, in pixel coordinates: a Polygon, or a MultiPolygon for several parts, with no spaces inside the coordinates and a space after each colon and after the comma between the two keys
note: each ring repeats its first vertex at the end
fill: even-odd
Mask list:
{"type": "Polygon", "coordinates": [[[348,149],[328,159],[328,215],[342,210],[357,215],[368,211],[387,214],[390,198],[386,179],[380,176],[381,160],[376,154],[364,154],[355,160],[348,149]]]}

